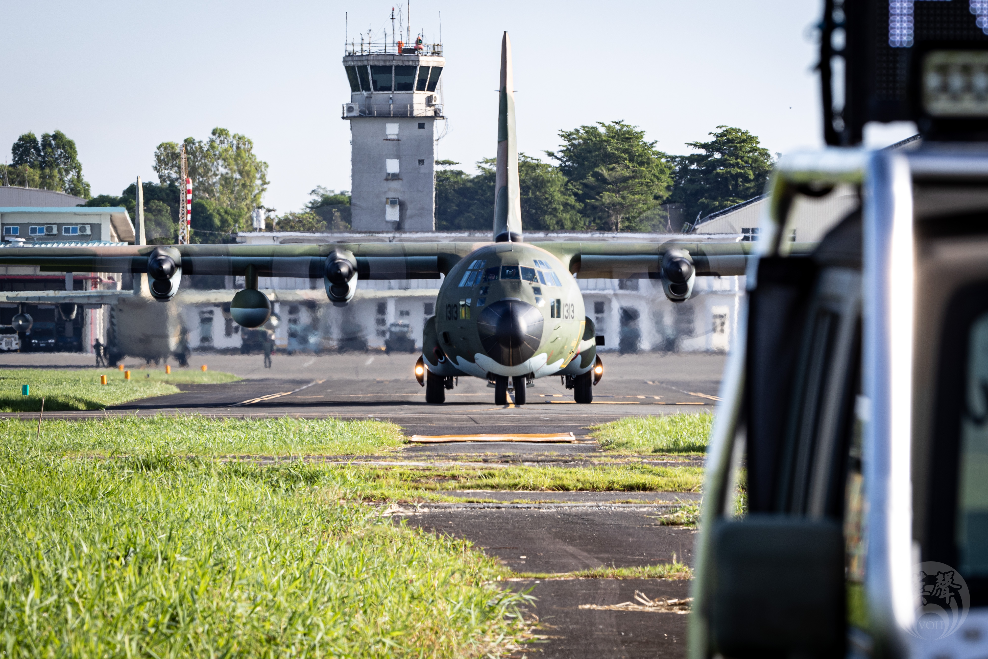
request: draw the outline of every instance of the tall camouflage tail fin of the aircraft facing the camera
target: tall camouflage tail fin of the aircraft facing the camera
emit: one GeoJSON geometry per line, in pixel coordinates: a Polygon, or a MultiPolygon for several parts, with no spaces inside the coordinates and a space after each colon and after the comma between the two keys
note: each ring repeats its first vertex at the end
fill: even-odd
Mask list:
{"type": "Polygon", "coordinates": [[[522,241],[522,193],[518,184],[518,136],[511,73],[511,40],[501,41],[501,99],[497,115],[497,179],[494,184],[494,240],[522,241]]]}

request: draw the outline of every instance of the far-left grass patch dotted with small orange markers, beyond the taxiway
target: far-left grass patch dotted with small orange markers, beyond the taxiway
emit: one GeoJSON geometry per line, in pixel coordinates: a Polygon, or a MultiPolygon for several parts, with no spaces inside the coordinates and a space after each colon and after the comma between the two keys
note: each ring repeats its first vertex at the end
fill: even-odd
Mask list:
{"type": "Polygon", "coordinates": [[[178,370],[171,374],[165,374],[164,370],[130,371],[130,377],[124,379],[124,371],[116,369],[0,369],[0,412],[38,412],[42,396],[44,409],[50,412],[99,410],[138,398],[178,393],[175,384],[240,379],[219,371],[178,370]],[[105,385],[100,384],[100,375],[107,376],[105,385]],[[28,396],[21,393],[24,384],[30,385],[28,396]]]}

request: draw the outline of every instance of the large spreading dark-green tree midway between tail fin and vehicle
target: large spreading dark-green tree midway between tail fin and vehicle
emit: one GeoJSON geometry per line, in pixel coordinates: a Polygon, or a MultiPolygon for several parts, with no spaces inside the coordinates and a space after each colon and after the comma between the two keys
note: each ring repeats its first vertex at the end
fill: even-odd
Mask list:
{"type": "Polygon", "coordinates": [[[560,130],[559,137],[559,150],[545,154],[559,162],[588,227],[638,230],[634,220],[669,196],[672,167],[644,130],[598,122],[560,130]]]}

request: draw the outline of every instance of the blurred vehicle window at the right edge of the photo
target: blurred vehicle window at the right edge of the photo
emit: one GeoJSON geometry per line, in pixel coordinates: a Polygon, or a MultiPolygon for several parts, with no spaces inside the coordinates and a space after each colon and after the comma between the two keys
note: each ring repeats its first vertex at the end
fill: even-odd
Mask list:
{"type": "Polygon", "coordinates": [[[988,576],[988,312],[971,323],[957,462],[957,568],[988,576]]]}

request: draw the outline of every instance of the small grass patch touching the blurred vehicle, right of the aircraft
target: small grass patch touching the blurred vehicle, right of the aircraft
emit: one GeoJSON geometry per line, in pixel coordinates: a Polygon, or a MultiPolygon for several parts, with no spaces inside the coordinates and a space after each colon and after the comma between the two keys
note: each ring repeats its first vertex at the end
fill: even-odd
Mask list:
{"type": "Polygon", "coordinates": [[[593,426],[591,437],[615,453],[706,453],[712,414],[624,417],[593,426]]]}

